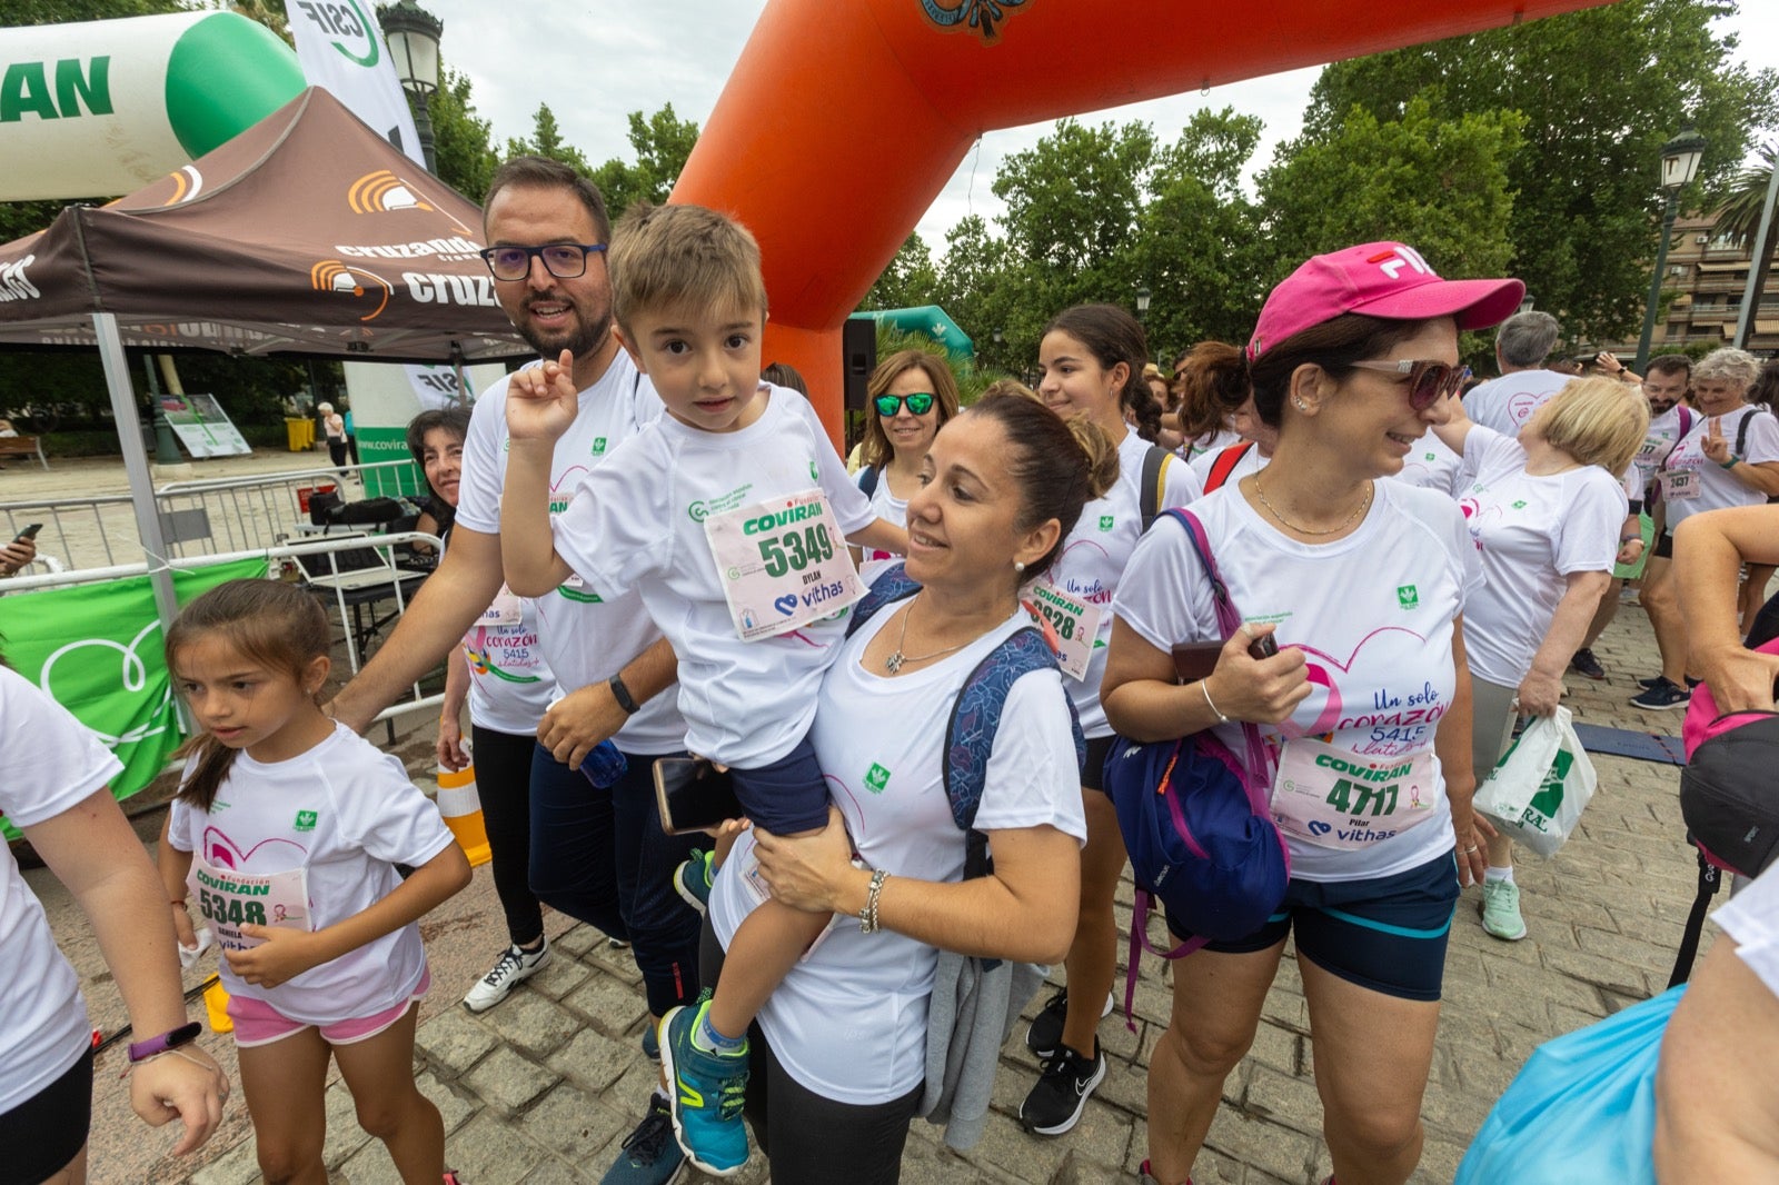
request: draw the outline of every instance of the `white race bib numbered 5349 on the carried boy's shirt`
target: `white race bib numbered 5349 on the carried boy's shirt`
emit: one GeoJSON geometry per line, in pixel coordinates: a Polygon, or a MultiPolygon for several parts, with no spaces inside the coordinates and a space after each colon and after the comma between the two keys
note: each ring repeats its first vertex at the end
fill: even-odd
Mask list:
{"type": "Polygon", "coordinates": [[[744,642],[801,630],[865,596],[820,489],[708,518],[704,537],[744,642]]]}

